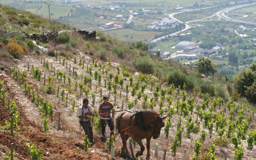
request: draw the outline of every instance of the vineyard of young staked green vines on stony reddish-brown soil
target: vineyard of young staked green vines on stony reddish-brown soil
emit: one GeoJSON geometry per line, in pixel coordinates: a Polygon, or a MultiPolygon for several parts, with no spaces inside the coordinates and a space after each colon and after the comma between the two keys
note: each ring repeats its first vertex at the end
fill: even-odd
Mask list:
{"type": "MultiPolygon", "coordinates": [[[[92,120],[96,145],[87,151],[80,146],[85,139],[77,117],[83,98],[97,113],[103,95],[114,104],[116,116],[127,109],[168,115],[160,137],[151,140],[150,159],[256,159],[254,112],[235,99],[225,102],[186,90],[186,84],[168,85],[79,51],[70,59],[58,52],[41,55],[28,54],[0,72],[1,159],[11,157],[11,143],[15,159],[109,159],[109,141],[100,139],[99,114],[92,120]]],[[[115,159],[122,159],[120,137],[113,143],[115,159]]]]}

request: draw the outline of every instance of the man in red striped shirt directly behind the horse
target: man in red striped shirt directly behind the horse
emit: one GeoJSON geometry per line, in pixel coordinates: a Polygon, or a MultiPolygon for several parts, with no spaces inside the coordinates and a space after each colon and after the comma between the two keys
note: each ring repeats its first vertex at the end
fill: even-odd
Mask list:
{"type": "Polygon", "coordinates": [[[103,101],[99,107],[99,115],[101,116],[101,134],[104,139],[106,139],[105,132],[106,132],[106,123],[108,123],[109,128],[112,133],[114,133],[114,122],[113,119],[115,118],[115,109],[111,102],[109,102],[109,98],[107,96],[103,96],[103,101]],[[112,118],[111,118],[112,112],[112,118]]]}

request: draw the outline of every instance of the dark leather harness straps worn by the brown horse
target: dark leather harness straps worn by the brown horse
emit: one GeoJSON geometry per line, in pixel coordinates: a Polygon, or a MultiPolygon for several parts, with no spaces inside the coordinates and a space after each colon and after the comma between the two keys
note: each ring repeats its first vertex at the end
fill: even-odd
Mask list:
{"type": "MultiPolygon", "coordinates": [[[[156,133],[155,129],[156,129],[156,127],[157,127],[157,124],[159,124],[159,123],[162,124],[162,123],[163,123],[163,118],[162,118],[162,117],[160,117],[160,118],[161,118],[161,121],[159,121],[159,122],[157,122],[157,121],[156,121],[156,118],[155,118],[155,121],[153,121],[152,123],[150,123],[150,124],[153,124],[153,131],[152,131],[152,130],[151,130],[151,127],[147,127],[146,125],[144,125],[144,124],[142,123],[142,112],[143,112],[142,110],[139,110],[139,111],[136,111],[136,112],[133,111],[133,110],[127,110],[127,111],[123,112],[123,113],[120,115],[119,123],[117,124],[118,129],[119,129],[121,117],[122,117],[123,114],[125,114],[126,112],[131,112],[131,113],[132,113],[132,114],[130,115],[130,125],[129,125],[129,127],[125,128],[125,129],[122,129],[121,131],[118,131],[118,133],[123,132],[123,131],[125,131],[125,130],[127,130],[127,129],[129,129],[129,128],[135,126],[135,125],[138,125],[141,130],[143,130],[143,131],[148,131],[148,130],[150,130],[150,131],[152,132],[152,135],[154,135],[154,134],[156,133]],[[132,120],[133,116],[135,116],[135,124],[134,124],[134,125],[131,125],[131,120],[132,120]]],[[[131,129],[131,131],[133,132],[132,129],[131,129]]],[[[159,135],[160,132],[161,132],[161,130],[159,130],[159,132],[157,132],[157,134],[159,135]]],[[[151,135],[151,136],[152,136],[152,135],[151,135]]]]}

